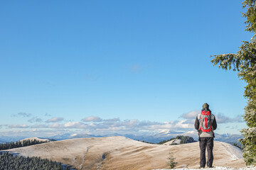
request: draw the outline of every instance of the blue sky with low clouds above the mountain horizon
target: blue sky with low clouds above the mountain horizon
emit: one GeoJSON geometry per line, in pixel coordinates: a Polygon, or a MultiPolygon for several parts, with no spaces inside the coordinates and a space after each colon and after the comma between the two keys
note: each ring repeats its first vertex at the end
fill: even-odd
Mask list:
{"type": "Polygon", "coordinates": [[[207,102],[239,133],[245,83],[210,55],[252,37],[241,3],[1,1],[0,132],[186,132],[207,102]]]}

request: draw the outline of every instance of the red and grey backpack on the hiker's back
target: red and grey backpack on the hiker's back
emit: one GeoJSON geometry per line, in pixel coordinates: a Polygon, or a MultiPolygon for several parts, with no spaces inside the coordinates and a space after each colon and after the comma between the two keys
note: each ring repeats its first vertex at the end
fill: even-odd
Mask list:
{"type": "Polygon", "coordinates": [[[212,131],[212,123],[210,121],[211,118],[211,112],[210,111],[202,111],[201,115],[200,115],[200,130],[202,130],[202,132],[210,132],[212,131]]]}

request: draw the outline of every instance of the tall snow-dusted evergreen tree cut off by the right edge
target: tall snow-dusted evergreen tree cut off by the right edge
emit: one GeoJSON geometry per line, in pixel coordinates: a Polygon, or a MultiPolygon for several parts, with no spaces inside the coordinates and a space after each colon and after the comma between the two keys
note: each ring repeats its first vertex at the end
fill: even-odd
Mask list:
{"type": "MultiPolygon", "coordinates": [[[[247,98],[247,106],[245,106],[245,115],[243,116],[248,128],[241,130],[244,137],[240,142],[244,146],[243,157],[247,165],[256,164],[256,0],[245,0],[242,2],[242,8],[247,11],[242,13],[246,18],[246,29],[250,33],[254,33],[250,42],[242,41],[242,45],[237,53],[229,53],[225,55],[214,55],[214,65],[222,69],[231,69],[238,71],[238,77],[244,80],[245,98],[247,98]]],[[[213,56],[211,56],[213,57],[213,56]]]]}

